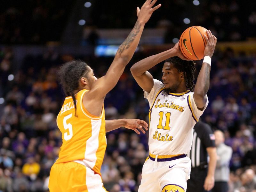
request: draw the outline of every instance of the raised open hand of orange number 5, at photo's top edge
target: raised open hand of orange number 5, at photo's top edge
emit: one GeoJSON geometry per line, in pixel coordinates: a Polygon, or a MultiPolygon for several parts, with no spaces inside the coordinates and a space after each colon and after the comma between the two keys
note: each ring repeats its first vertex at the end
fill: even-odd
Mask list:
{"type": "Polygon", "coordinates": [[[148,22],[152,13],[156,11],[159,7],[161,7],[161,4],[158,4],[157,6],[153,7],[156,1],[157,0],[153,0],[151,2],[151,0],[146,0],[146,2],[142,5],[141,9],[137,7],[138,21],[144,24],[148,22]]]}

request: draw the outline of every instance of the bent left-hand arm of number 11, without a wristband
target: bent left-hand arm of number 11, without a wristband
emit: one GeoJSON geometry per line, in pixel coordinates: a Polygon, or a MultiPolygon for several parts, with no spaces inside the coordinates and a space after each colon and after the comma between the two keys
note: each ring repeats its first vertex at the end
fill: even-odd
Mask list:
{"type": "Polygon", "coordinates": [[[132,65],[132,76],[140,87],[149,93],[154,85],[154,81],[153,76],[148,72],[148,70],[154,67],[156,64],[174,56],[178,56],[182,60],[188,60],[180,52],[179,43],[177,43],[173,48],[167,51],[152,55],[132,65]]]}

